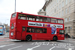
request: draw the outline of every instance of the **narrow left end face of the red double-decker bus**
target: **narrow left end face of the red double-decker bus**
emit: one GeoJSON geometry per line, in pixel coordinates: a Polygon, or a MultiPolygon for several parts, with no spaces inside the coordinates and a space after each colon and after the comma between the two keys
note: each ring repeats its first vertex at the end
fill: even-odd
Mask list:
{"type": "Polygon", "coordinates": [[[17,13],[13,13],[10,19],[10,33],[9,33],[10,39],[16,39],[16,18],[17,13]]]}

